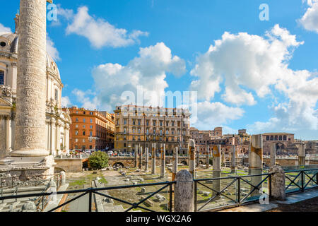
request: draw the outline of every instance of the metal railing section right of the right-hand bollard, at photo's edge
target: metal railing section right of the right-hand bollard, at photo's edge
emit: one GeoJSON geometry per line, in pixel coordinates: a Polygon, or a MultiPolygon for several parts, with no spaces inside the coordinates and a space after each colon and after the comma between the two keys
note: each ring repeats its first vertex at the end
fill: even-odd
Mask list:
{"type": "Polygon", "coordinates": [[[318,169],[289,170],[285,172],[285,179],[286,182],[288,182],[285,186],[286,194],[299,191],[303,192],[318,186],[318,169]],[[312,175],[310,175],[311,173],[312,175]],[[314,179],[316,179],[316,181],[314,181],[314,179]]]}

